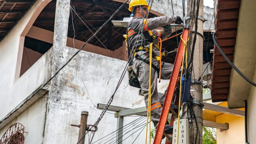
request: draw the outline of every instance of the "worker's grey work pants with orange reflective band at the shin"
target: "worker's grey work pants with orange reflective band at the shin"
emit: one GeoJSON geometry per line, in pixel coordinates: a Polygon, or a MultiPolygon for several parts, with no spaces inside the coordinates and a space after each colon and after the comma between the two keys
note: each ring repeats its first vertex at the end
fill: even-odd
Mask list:
{"type": "MultiPolygon", "coordinates": [[[[149,61],[149,55],[143,54],[141,57],[149,61]]],[[[160,68],[160,63],[156,59],[152,58],[152,64],[160,68]]],[[[137,74],[140,81],[141,93],[144,95],[146,107],[148,107],[148,88],[149,88],[149,64],[142,60],[133,59],[132,69],[137,74]]],[[[170,79],[172,74],[173,64],[164,63],[164,67],[161,70],[161,79],[170,79]]],[[[159,100],[157,92],[157,78],[159,73],[151,68],[151,121],[154,126],[157,127],[159,118],[162,112],[162,106],[164,104],[165,94],[159,100]]]]}

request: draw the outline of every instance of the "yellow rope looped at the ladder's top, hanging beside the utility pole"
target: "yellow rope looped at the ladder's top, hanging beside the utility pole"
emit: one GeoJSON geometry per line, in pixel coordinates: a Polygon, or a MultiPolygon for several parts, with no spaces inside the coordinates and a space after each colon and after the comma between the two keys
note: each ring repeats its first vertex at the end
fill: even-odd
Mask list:
{"type": "MultiPolygon", "coordinates": [[[[183,41],[184,43],[184,48],[183,48],[183,55],[182,55],[182,67],[181,67],[181,78],[180,78],[180,97],[179,97],[179,111],[178,111],[178,125],[177,125],[177,144],[178,144],[178,141],[179,141],[179,124],[180,124],[180,99],[181,99],[181,79],[182,79],[182,73],[183,73],[183,66],[184,66],[184,53],[185,53],[185,49],[187,48],[187,41],[184,41],[182,39],[182,35],[180,36],[181,40],[183,41]]],[[[187,52],[187,50],[186,50],[187,52]]],[[[186,53],[186,60],[187,60],[187,53],[186,53]]]]}

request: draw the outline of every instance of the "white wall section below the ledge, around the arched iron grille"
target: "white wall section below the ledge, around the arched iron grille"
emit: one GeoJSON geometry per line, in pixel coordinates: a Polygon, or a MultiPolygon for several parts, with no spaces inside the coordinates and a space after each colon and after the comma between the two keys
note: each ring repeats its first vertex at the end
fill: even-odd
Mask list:
{"type": "Polygon", "coordinates": [[[17,116],[12,122],[0,130],[0,136],[14,123],[24,125],[25,144],[41,144],[44,137],[44,122],[46,119],[46,106],[48,95],[37,100],[27,110],[17,116]]]}

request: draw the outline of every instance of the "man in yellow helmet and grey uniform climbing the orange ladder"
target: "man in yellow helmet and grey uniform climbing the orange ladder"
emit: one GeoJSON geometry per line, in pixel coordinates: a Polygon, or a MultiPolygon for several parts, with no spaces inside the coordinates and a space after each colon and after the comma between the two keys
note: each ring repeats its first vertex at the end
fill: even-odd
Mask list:
{"type": "MultiPolygon", "coordinates": [[[[167,27],[171,23],[176,24],[183,23],[179,16],[161,16],[155,18],[146,19],[148,16],[148,3],[146,0],[131,0],[129,4],[129,11],[133,13],[132,20],[128,23],[127,27],[127,47],[128,51],[134,48],[132,63],[132,70],[138,77],[141,93],[144,95],[146,106],[148,105],[148,88],[149,88],[149,44],[152,43],[156,38],[165,39],[172,34],[172,28],[167,27]],[[143,20],[143,17],[145,19],[143,20]],[[143,23],[145,25],[140,26],[143,23]],[[162,30],[156,30],[158,27],[163,27],[162,30]]],[[[153,46],[153,57],[152,57],[152,71],[151,71],[151,120],[154,126],[157,128],[159,118],[162,111],[162,105],[165,99],[165,94],[159,100],[157,92],[157,77],[159,75],[160,63],[158,59],[160,57],[159,47],[153,46]]],[[[162,52],[164,55],[164,52],[162,52]]],[[[172,73],[173,64],[162,63],[161,79],[170,79],[172,73]]],[[[129,69],[128,69],[129,71],[129,69]]],[[[173,106],[173,105],[172,105],[173,106]]],[[[147,108],[148,109],[148,108],[147,108]]],[[[173,126],[170,126],[168,121],[164,132],[167,134],[172,133],[173,126]]]]}

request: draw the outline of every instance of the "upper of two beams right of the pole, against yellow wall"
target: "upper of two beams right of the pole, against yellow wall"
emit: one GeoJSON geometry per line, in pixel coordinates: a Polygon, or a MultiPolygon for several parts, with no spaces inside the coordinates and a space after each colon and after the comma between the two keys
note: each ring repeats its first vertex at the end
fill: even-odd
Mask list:
{"type": "Polygon", "coordinates": [[[244,111],[238,110],[238,109],[230,109],[228,107],[223,107],[220,105],[210,104],[204,102],[204,109],[212,110],[212,111],[218,111],[225,114],[235,115],[235,116],[241,116],[244,117],[244,111]]]}

